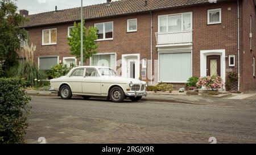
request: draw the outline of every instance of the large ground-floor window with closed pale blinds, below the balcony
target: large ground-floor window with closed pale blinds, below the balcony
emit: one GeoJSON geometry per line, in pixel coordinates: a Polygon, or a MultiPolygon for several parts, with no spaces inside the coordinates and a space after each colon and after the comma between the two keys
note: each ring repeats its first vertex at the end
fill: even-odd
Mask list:
{"type": "Polygon", "coordinates": [[[159,53],[159,82],[185,83],[191,77],[191,52],[159,53]]]}

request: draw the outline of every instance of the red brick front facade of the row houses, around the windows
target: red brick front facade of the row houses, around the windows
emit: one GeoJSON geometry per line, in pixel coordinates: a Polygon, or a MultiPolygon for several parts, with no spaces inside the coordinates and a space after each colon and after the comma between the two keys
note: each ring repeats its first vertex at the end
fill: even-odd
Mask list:
{"type": "MultiPolygon", "coordinates": [[[[250,1],[253,1],[253,0],[250,0],[250,1]]],[[[248,2],[246,1],[246,3],[248,2]]],[[[246,4],[243,4],[243,5],[246,5],[246,4]]],[[[254,9],[248,9],[247,11],[253,12],[254,9]]],[[[200,51],[201,50],[225,49],[226,56],[236,55],[236,66],[233,67],[232,69],[234,71],[237,71],[237,3],[236,1],[209,3],[208,5],[180,7],[179,9],[166,9],[162,11],[152,12],[153,60],[158,59],[158,51],[156,48],[156,38],[155,38],[155,32],[158,32],[158,15],[176,14],[179,12],[192,12],[192,16],[193,16],[193,49],[192,49],[193,76],[200,76],[200,51]],[[222,23],[208,25],[207,10],[217,9],[217,8],[222,9],[222,23]],[[231,10],[228,10],[228,8],[230,8],[231,10]]],[[[245,12],[244,9],[243,9],[243,12],[245,12]]],[[[253,15],[255,16],[255,14],[253,15]]],[[[117,60],[121,59],[123,54],[140,53],[141,59],[147,58],[148,60],[150,60],[150,12],[137,14],[137,15],[119,16],[111,19],[105,18],[105,19],[86,20],[86,27],[93,26],[94,23],[101,23],[101,22],[114,22],[114,35],[113,35],[114,39],[109,41],[98,41],[99,53],[104,53],[104,52],[117,53],[117,60]],[[138,19],[137,20],[138,30],[137,32],[127,32],[127,28],[126,28],[127,19],[133,19],[133,18],[138,19]]],[[[35,56],[36,62],[38,61],[37,59],[38,56],[59,55],[60,60],[63,60],[63,56],[65,57],[71,56],[69,55],[69,47],[67,44],[66,37],[67,37],[67,28],[68,26],[72,26],[72,24],[73,23],[67,23],[67,24],[56,24],[54,26],[48,26],[48,27],[28,28],[29,35],[30,35],[30,42],[33,42],[37,46],[36,56],[35,56]],[[57,45],[48,45],[48,46],[41,45],[42,29],[46,29],[46,28],[57,28],[57,45]]],[[[245,24],[245,21],[243,21],[243,24],[245,24]]],[[[228,58],[226,59],[226,68],[229,68],[228,58]]],[[[243,71],[245,71],[245,69],[247,69],[247,67],[243,68],[243,71]]],[[[153,71],[154,71],[154,65],[153,65],[153,71]]],[[[249,71],[246,71],[246,72],[249,72],[249,71]]],[[[155,76],[157,77],[157,75],[155,76]]],[[[242,76],[245,76],[245,74],[243,74],[242,76]]],[[[250,81],[252,80],[254,80],[254,78],[250,79],[250,81]]],[[[246,87],[245,82],[243,82],[242,85],[244,88],[246,87]]],[[[181,85],[177,85],[177,87],[179,86],[181,85]]],[[[251,89],[255,87],[256,86],[251,86],[251,89]]]]}

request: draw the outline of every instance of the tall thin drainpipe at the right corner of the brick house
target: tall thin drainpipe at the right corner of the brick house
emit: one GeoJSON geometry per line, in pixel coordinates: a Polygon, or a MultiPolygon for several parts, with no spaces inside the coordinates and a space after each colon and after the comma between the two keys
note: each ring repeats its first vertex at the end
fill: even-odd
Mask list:
{"type": "Polygon", "coordinates": [[[240,91],[240,3],[237,0],[237,74],[238,74],[238,85],[237,89],[240,91]]]}

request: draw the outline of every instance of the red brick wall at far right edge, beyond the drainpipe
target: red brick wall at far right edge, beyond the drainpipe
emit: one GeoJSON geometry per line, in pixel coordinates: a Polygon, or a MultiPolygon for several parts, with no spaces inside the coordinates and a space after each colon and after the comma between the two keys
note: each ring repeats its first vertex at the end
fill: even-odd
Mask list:
{"type": "Polygon", "coordinates": [[[253,57],[256,56],[256,15],[253,0],[242,1],[242,49],[241,49],[241,90],[255,91],[256,78],[253,77],[253,57]],[[250,50],[250,16],[253,22],[253,50],[250,50]]]}

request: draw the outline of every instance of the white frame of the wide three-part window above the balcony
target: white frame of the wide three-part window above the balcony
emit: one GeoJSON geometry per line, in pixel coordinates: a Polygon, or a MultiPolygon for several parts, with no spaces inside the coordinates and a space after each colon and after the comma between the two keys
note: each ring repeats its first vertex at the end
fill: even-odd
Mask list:
{"type": "MultiPolygon", "coordinates": [[[[170,31],[170,32],[172,32],[172,33],[175,33],[175,32],[182,32],[182,31],[192,31],[193,30],[193,14],[192,14],[192,12],[182,12],[182,13],[179,13],[179,14],[168,14],[168,15],[159,15],[158,16],[158,33],[170,33],[169,31],[168,31],[168,16],[175,16],[175,15],[181,15],[181,21],[183,21],[183,16],[185,15],[185,14],[190,14],[191,15],[191,30],[184,30],[184,25],[183,24],[181,24],[181,31],[170,31]],[[167,17],[167,28],[166,28],[166,32],[160,32],[160,18],[162,18],[162,17],[167,17]]],[[[183,22],[182,22],[183,23],[183,22]]]]}

